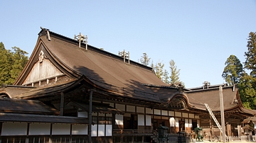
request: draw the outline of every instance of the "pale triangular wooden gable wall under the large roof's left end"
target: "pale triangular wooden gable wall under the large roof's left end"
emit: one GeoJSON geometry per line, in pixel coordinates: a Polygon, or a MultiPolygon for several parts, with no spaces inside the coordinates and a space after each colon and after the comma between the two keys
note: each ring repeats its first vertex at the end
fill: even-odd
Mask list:
{"type": "Polygon", "coordinates": [[[55,67],[55,65],[44,56],[43,51],[41,51],[38,57],[38,61],[36,64],[34,64],[23,84],[30,84],[36,81],[42,81],[60,75],[63,75],[63,72],[55,67]]]}

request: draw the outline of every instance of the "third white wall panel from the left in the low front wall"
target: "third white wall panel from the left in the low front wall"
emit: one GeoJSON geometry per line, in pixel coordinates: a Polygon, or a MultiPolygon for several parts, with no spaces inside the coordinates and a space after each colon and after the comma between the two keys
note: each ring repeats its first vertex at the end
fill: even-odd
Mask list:
{"type": "Polygon", "coordinates": [[[53,135],[70,135],[70,124],[53,124],[53,135]]]}

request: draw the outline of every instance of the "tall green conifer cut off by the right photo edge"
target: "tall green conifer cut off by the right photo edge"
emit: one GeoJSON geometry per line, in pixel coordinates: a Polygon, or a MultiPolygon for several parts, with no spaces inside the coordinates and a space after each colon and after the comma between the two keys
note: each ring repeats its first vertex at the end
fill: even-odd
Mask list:
{"type": "Polygon", "coordinates": [[[247,39],[247,52],[245,52],[244,68],[238,84],[242,104],[246,108],[256,108],[256,33],[249,33],[247,39]]]}

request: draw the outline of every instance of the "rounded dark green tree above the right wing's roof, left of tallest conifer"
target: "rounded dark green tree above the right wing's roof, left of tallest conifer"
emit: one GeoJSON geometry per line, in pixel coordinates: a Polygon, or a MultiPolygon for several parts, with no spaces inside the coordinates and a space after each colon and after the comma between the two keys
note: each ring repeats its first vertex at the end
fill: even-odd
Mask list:
{"type": "Polygon", "coordinates": [[[235,55],[228,57],[222,76],[230,86],[239,83],[242,76],[242,64],[238,57],[235,57],[235,55]]]}

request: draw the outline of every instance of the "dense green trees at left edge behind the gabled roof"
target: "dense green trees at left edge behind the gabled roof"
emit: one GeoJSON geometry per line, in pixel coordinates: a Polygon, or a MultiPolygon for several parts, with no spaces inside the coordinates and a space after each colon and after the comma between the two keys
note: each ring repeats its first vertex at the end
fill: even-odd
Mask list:
{"type": "Polygon", "coordinates": [[[14,84],[28,62],[28,53],[18,47],[12,47],[14,52],[6,50],[3,42],[0,42],[0,85],[14,84]]]}

